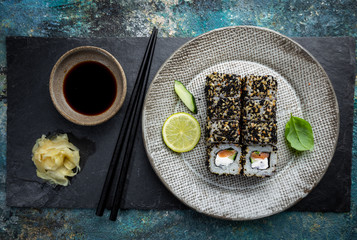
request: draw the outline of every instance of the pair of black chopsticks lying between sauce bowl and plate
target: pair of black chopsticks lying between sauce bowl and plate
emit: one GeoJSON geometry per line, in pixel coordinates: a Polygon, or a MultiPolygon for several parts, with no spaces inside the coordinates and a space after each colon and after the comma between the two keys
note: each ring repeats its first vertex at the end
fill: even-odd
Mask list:
{"type": "Polygon", "coordinates": [[[109,204],[109,209],[111,209],[109,219],[112,221],[115,221],[117,218],[118,210],[120,208],[120,203],[123,196],[126,175],[129,168],[129,161],[134,146],[135,134],[140,122],[140,114],[143,107],[145,89],[149,79],[152,58],[155,51],[157,32],[158,30],[156,27],[154,27],[145,50],[144,58],[141,62],[133,93],[130,96],[123,125],[120,129],[120,134],[115,145],[113,157],[110,162],[102,193],[97,205],[96,215],[103,216],[104,209],[108,204],[111,187],[114,186],[114,200],[109,204]],[[114,178],[117,178],[117,181],[116,184],[113,185],[114,178]]]}

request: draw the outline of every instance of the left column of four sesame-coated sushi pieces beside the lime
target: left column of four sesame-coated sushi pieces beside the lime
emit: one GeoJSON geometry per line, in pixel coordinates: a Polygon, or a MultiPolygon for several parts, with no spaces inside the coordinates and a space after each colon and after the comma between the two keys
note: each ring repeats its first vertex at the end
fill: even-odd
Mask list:
{"type": "Polygon", "coordinates": [[[242,170],[240,145],[242,78],[212,73],[206,77],[206,142],[209,169],[215,174],[236,175],[242,170]]]}

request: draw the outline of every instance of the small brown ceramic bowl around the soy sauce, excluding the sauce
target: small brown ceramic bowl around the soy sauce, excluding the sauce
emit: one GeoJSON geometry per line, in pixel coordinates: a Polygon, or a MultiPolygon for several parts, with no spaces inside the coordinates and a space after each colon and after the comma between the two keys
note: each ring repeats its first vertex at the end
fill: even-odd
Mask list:
{"type": "Polygon", "coordinates": [[[69,121],[85,126],[97,125],[113,117],[123,105],[126,95],[126,77],[119,62],[104,49],[92,46],[74,48],[66,52],[52,69],[49,83],[50,95],[58,112],[69,121]],[[98,115],[85,115],[71,108],[63,90],[66,74],[77,64],[94,61],[106,66],[113,74],[117,94],[113,104],[98,115]]]}

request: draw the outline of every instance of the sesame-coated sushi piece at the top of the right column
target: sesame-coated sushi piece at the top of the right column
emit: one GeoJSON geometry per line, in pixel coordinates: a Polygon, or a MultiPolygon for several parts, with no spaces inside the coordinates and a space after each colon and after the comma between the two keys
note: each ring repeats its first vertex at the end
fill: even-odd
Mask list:
{"type": "Polygon", "coordinates": [[[247,99],[276,99],[278,83],[273,76],[249,75],[243,79],[243,95],[247,99]]]}

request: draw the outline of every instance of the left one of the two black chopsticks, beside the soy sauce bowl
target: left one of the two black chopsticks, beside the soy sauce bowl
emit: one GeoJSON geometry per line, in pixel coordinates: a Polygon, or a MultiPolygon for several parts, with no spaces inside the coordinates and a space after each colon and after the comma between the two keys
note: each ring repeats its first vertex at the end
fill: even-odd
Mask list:
{"type": "MultiPolygon", "coordinates": [[[[125,112],[123,125],[120,129],[120,133],[118,135],[118,139],[117,139],[117,142],[115,145],[113,156],[112,156],[109,168],[108,168],[107,176],[106,176],[106,179],[105,179],[105,182],[103,185],[103,189],[102,189],[102,192],[100,195],[100,199],[99,199],[99,202],[97,205],[96,215],[98,215],[98,216],[103,216],[104,209],[105,209],[106,204],[109,199],[110,189],[112,187],[113,179],[116,175],[116,170],[118,168],[119,155],[123,151],[123,149],[125,149],[125,146],[123,146],[123,145],[126,145],[125,138],[127,138],[127,135],[128,135],[127,132],[128,132],[128,129],[130,129],[130,125],[132,125],[131,119],[132,119],[132,115],[133,115],[133,108],[135,107],[135,105],[137,104],[137,101],[138,101],[139,92],[140,92],[139,90],[142,88],[142,85],[143,85],[143,77],[142,76],[143,76],[144,71],[146,70],[148,58],[151,53],[150,50],[152,49],[153,40],[154,40],[154,38],[156,38],[156,35],[157,35],[157,29],[154,28],[153,32],[150,36],[148,45],[146,47],[143,60],[140,65],[139,74],[135,81],[133,93],[130,97],[129,104],[128,104],[128,107],[125,112]]],[[[121,171],[121,169],[118,169],[118,172],[120,172],[120,171],[121,171]]]]}

